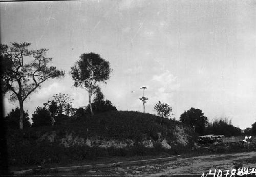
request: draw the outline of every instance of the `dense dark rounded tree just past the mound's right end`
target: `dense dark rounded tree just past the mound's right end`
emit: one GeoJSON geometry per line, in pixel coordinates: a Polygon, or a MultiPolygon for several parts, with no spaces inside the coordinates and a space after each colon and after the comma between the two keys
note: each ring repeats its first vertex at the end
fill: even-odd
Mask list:
{"type": "Polygon", "coordinates": [[[201,109],[191,107],[180,116],[180,121],[189,127],[194,127],[195,132],[203,135],[205,126],[207,125],[207,117],[204,116],[201,109]]]}

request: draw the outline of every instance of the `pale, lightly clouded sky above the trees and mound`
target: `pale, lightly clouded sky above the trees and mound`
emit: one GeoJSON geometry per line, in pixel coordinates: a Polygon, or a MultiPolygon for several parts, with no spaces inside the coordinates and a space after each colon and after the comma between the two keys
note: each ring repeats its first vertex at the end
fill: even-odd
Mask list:
{"type": "MultiPolygon", "coordinates": [[[[240,1],[56,1],[0,3],[1,42],[49,49],[62,79],[41,85],[25,101],[30,116],[53,94],[70,94],[73,107],[88,93],[73,86],[70,67],[82,53],[98,53],[113,72],[100,84],[118,110],[156,114],[161,101],[178,120],[191,107],[209,121],[234,126],[256,121],[256,3],[240,1]]],[[[18,103],[8,102],[5,113],[18,103]]]]}

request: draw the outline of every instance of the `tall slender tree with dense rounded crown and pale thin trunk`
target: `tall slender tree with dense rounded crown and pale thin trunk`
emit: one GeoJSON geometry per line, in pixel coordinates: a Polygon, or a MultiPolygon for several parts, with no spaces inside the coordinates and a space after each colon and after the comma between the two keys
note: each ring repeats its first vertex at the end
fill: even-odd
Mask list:
{"type": "Polygon", "coordinates": [[[89,105],[91,114],[93,115],[93,108],[91,103],[92,95],[99,89],[98,83],[110,78],[109,61],[104,60],[99,54],[85,53],[80,56],[74,67],[71,67],[71,76],[74,79],[74,86],[80,86],[86,89],[89,94],[89,105]]]}

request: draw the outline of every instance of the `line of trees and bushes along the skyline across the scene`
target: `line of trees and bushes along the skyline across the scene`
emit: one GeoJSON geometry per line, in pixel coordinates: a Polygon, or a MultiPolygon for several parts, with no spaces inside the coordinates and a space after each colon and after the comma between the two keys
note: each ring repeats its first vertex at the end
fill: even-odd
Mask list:
{"type": "MultiPolygon", "coordinates": [[[[31,43],[12,42],[10,46],[0,45],[1,57],[1,91],[10,93],[11,102],[18,101],[19,108],[13,109],[7,117],[15,117],[19,128],[28,126],[28,113],[24,111],[24,101],[38,90],[42,83],[49,79],[62,78],[65,72],[57,70],[50,65],[53,58],[46,56],[47,49],[30,50],[31,43]]],[[[74,115],[84,116],[84,112],[94,115],[94,112],[116,110],[109,100],[104,100],[99,83],[106,83],[113,70],[109,61],[99,54],[83,53],[80,59],[71,67],[69,74],[74,80],[75,87],[81,87],[88,92],[89,105],[86,109],[72,107],[73,99],[68,94],[55,94],[51,100],[38,106],[32,115],[34,126],[54,125],[61,120],[74,115]],[[92,97],[95,96],[94,100],[92,97]]],[[[172,116],[172,107],[160,101],[155,105],[155,110],[160,116],[160,125],[163,118],[172,116]]],[[[11,121],[11,122],[12,122],[11,121]]],[[[201,109],[191,107],[180,116],[180,121],[191,127],[199,135],[219,134],[225,136],[239,135],[241,129],[228,124],[225,120],[208,122],[201,109]]],[[[246,132],[256,134],[256,123],[246,132]]]]}

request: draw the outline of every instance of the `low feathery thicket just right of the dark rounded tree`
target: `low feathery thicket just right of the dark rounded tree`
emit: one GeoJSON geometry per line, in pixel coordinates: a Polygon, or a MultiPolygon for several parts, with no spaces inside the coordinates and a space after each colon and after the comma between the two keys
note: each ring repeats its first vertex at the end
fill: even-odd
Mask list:
{"type": "Polygon", "coordinates": [[[206,127],[205,135],[224,135],[225,137],[240,136],[241,129],[230,125],[226,120],[215,120],[206,127]]]}

